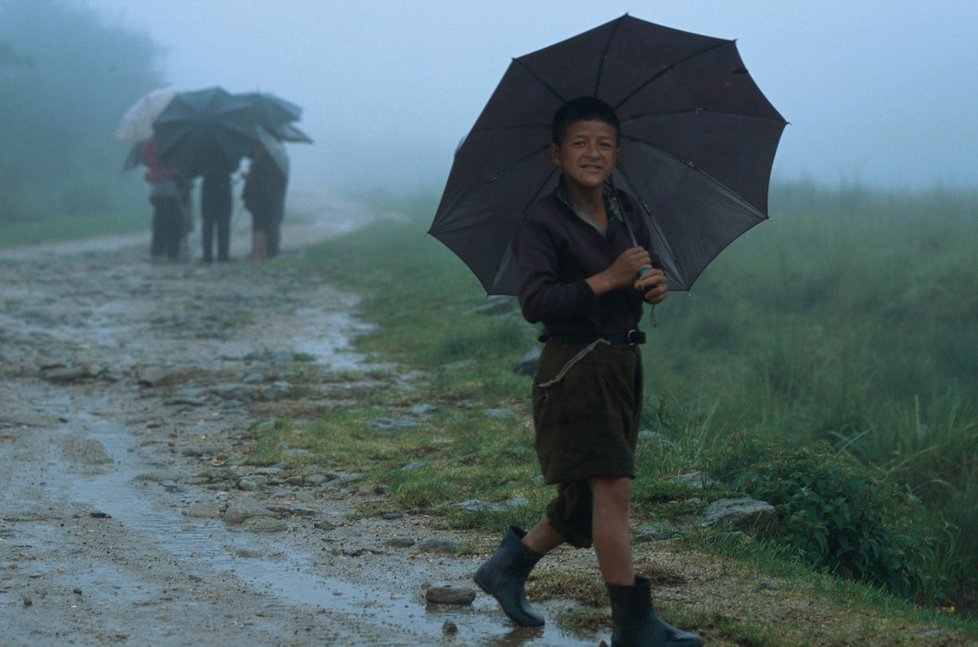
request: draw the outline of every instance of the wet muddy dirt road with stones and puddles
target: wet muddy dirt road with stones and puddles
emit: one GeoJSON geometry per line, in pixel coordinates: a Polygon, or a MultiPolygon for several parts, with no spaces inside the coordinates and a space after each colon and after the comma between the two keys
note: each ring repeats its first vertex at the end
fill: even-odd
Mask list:
{"type": "MultiPolygon", "coordinates": [[[[289,223],[285,255],[380,217],[316,213],[289,223]]],[[[233,256],[246,236],[239,223],[233,256]]],[[[236,461],[267,404],[293,397],[296,353],[364,368],[357,297],[240,261],[151,264],[147,246],[0,252],[0,645],[597,643],[515,629],[481,593],[427,605],[426,587],[472,588],[480,558],[437,549],[458,537],[358,517],[350,475],[236,461]]],[[[377,385],[318,388],[304,397],[328,412],[377,385]]]]}

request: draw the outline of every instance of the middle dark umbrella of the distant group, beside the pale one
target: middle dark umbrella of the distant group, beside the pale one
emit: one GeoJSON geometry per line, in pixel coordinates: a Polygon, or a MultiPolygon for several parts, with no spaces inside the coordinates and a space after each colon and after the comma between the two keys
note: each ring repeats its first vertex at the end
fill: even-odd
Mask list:
{"type": "Polygon", "coordinates": [[[153,122],[160,158],[184,175],[231,173],[258,142],[248,103],[213,87],[174,96],[153,122]]]}

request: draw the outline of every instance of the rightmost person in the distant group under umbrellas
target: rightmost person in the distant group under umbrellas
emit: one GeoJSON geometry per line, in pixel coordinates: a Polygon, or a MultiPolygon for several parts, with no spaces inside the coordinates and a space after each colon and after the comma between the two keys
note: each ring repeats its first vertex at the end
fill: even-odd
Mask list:
{"type": "Polygon", "coordinates": [[[248,258],[252,261],[260,263],[279,253],[287,184],[288,177],[265,147],[256,146],[241,194],[245,208],[251,212],[252,243],[248,258]]]}

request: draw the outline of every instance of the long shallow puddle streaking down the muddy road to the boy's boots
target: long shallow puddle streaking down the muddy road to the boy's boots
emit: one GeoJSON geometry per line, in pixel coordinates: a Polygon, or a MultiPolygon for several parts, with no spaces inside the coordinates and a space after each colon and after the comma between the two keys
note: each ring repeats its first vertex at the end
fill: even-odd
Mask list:
{"type": "MultiPolygon", "coordinates": [[[[513,627],[495,601],[481,592],[471,607],[429,608],[421,600],[420,591],[391,591],[320,576],[314,569],[322,556],[292,545],[287,536],[256,535],[229,530],[219,520],[188,519],[180,509],[161,504],[164,497],[141,492],[133,479],[158,471],[158,467],[140,459],[134,439],[117,423],[80,414],[72,424],[72,433],[82,431],[102,444],[114,460],[115,469],[99,475],[64,475],[63,491],[74,501],[111,515],[129,531],[178,560],[190,561],[195,568],[231,573],[282,602],[327,609],[354,623],[362,618],[365,625],[379,623],[397,627],[397,631],[409,628],[423,641],[419,644],[575,647],[598,642],[552,624],[542,629],[513,627]],[[242,554],[248,557],[239,556],[242,554]],[[446,622],[458,627],[454,639],[443,635],[446,622]],[[475,636],[479,639],[473,642],[475,636]]],[[[105,578],[104,586],[131,589],[131,583],[124,581],[126,577],[122,570],[100,574],[100,578],[105,578]]]]}

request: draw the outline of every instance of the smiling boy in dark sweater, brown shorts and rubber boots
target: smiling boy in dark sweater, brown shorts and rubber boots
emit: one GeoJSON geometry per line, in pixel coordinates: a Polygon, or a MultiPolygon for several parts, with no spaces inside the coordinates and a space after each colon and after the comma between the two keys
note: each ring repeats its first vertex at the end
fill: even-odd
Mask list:
{"type": "Polygon", "coordinates": [[[611,599],[612,645],[697,647],[703,640],[656,616],[636,577],[628,532],[642,413],[638,330],[643,304],[668,284],[635,201],[610,178],[620,127],[606,103],[581,97],[554,115],[557,188],[527,211],[514,244],[523,317],[545,342],[533,383],[537,458],[557,496],[529,532],[510,526],[475,575],[518,625],[544,618],[526,601],[536,563],[557,546],[594,546],[611,599]]]}

